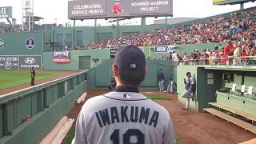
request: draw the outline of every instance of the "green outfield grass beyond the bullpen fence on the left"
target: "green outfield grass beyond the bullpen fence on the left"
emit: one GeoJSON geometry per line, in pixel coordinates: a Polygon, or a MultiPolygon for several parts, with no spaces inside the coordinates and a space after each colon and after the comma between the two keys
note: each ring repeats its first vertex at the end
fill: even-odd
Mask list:
{"type": "MultiPolygon", "coordinates": [[[[50,71],[37,71],[35,83],[37,80],[60,74],[50,71]]],[[[30,83],[30,80],[30,70],[0,70],[0,90],[30,83]]]]}

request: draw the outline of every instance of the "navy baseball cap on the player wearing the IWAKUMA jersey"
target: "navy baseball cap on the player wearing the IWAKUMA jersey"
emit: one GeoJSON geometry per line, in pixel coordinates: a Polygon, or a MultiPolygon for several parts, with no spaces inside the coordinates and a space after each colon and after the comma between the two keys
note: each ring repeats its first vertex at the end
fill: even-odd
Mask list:
{"type": "Polygon", "coordinates": [[[115,54],[114,65],[121,70],[145,70],[145,54],[137,46],[122,46],[115,54]]]}

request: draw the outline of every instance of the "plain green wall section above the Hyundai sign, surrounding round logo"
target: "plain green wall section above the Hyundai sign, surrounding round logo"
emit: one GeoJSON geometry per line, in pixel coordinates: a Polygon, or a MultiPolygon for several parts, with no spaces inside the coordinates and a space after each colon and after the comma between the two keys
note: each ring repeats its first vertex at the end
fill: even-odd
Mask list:
{"type": "Polygon", "coordinates": [[[43,34],[38,33],[10,33],[0,34],[4,41],[4,48],[0,50],[1,55],[22,55],[22,54],[42,54],[43,52],[43,34]],[[34,49],[29,50],[26,47],[26,40],[34,38],[34,49]]]}

